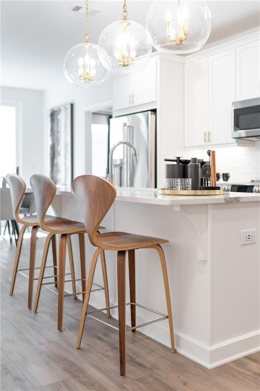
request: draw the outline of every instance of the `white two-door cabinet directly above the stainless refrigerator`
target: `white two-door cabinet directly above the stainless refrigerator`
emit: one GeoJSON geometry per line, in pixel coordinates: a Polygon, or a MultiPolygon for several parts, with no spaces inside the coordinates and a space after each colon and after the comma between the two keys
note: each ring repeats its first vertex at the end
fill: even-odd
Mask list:
{"type": "Polygon", "coordinates": [[[156,102],[156,61],[142,71],[117,76],[113,86],[113,110],[156,102]]]}

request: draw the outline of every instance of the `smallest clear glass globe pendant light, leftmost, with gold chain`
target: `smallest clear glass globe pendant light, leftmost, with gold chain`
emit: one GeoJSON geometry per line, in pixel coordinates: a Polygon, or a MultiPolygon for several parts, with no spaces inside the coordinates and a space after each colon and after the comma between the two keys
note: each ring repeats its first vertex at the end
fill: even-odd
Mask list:
{"type": "Polygon", "coordinates": [[[73,86],[99,87],[110,75],[109,58],[105,50],[89,42],[88,0],[86,0],[85,42],[73,46],[64,59],[63,70],[67,80],[73,86]],[[99,58],[102,53],[102,62],[99,58]]]}

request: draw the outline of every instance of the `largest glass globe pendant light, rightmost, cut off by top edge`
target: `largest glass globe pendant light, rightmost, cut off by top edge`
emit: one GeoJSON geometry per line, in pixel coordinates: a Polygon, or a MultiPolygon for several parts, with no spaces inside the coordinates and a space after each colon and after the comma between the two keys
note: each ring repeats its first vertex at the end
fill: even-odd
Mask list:
{"type": "Polygon", "coordinates": [[[148,11],[146,30],[158,51],[193,53],[209,38],[210,9],[200,1],[157,1],[148,11]]]}

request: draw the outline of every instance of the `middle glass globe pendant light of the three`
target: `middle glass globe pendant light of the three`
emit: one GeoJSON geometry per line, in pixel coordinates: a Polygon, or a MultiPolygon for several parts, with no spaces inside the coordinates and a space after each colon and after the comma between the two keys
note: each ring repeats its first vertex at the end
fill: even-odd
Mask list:
{"type": "MultiPolygon", "coordinates": [[[[127,19],[126,1],[122,20],[109,24],[101,33],[98,46],[109,56],[112,73],[136,72],[143,69],[150,59],[152,46],[141,24],[127,19]]],[[[107,66],[103,51],[100,59],[107,66]]]]}

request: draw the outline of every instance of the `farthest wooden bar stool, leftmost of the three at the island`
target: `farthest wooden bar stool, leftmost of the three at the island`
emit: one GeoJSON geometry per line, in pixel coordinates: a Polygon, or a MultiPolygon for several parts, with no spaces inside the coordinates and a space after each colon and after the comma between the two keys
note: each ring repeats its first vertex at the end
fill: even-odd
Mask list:
{"type": "MultiPolygon", "coordinates": [[[[37,231],[39,230],[40,226],[36,215],[26,216],[23,218],[20,218],[19,216],[19,208],[26,190],[26,184],[24,180],[21,177],[19,177],[19,175],[7,174],[6,181],[10,187],[14,217],[16,218],[16,221],[19,224],[22,224],[22,228],[20,230],[19,237],[18,237],[13,275],[12,275],[11,286],[10,286],[10,295],[13,295],[14,293],[14,286],[15,286],[17,273],[22,274],[24,277],[28,278],[28,308],[31,309],[32,294],[34,290],[34,281],[38,280],[38,278],[35,278],[35,257],[36,257],[37,231]],[[29,268],[18,269],[22,242],[23,242],[23,235],[26,228],[28,227],[31,227],[29,268]],[[29,270],[29,276],[27,276],[24,273],[24,271],[27,270],[29,270]]],[[[60,217],[46,216],[46,221],[48,222],[60,221],[60,220],[62,220],[62,218],[60,217]]],[[[52,237],[47,237],[46,242],[48,243],[48,248],[50,244],[50,239],[52,240],[53,266],[48,266],[48,267],[54,268],[54,276],[50,276],[50,277],[54,277],[55,283],[57,284],[57,258],[56,258],[55,235],[53,235],[52,237]]],[[[40,268],[36,268],[36,269],[40,269],[40,268]]]]}

